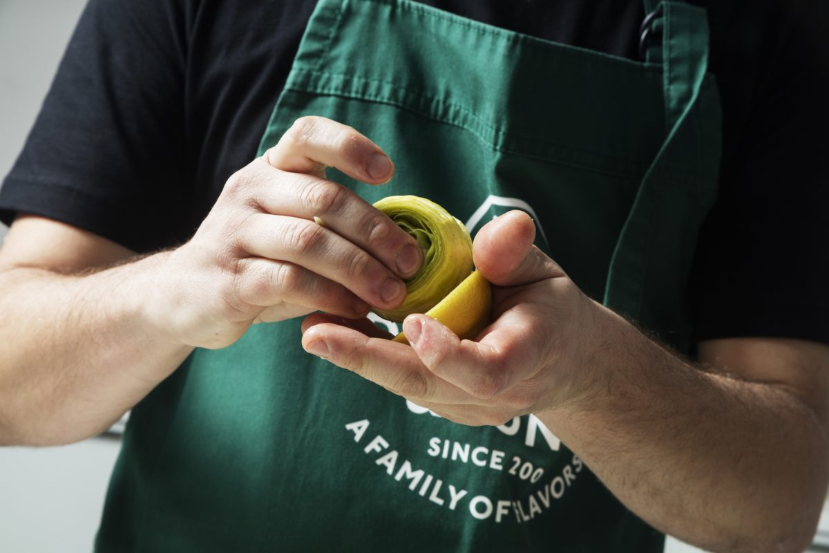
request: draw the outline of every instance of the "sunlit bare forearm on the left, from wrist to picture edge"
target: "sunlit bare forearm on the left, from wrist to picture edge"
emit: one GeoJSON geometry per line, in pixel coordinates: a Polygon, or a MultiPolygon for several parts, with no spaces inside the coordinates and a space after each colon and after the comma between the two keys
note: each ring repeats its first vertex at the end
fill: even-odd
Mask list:
{"type": "Polygon", "coordinates": [[[143,309],[165,255],[85,275],[0,272],[0,444],[97,434],[187,357],[143,309]]]}

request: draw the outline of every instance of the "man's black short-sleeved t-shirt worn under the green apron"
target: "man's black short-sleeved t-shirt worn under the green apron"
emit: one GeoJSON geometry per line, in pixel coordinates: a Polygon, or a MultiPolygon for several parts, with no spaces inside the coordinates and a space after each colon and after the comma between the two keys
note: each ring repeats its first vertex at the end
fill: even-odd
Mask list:
{"type": "MultiPolygon", "coordinates": [[[[187,240],[255,156],[314,3],[91,0],[0,189],[2,221],[49,216],[138,252],[187,240]]],[[[424,3],[628,58],[645,15],[640,0],[424,3]]],[[[829,343],[829,2],[693,3],[724,114],[697,338],[829,343]]]]}

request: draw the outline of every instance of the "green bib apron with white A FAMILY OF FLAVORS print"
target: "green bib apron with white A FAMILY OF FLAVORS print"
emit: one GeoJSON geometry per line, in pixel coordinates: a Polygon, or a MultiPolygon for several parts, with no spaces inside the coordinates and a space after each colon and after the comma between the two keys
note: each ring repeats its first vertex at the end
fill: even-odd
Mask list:
{"type": "MultiPolygon", "coordinates": [[[[530,211],[538,245],[581,289],[687,351],[720,108],[705,12],[661,6],[640,63],[408,0],[322,0],[260,152],[301,115],[350,124],[389,153],[395,179],[329,177],[367,201],[429,197],[473,235],[530,211]]],[[[96,546],[641,553],[662,541],[534,416],[453,424],[306,354],[288,321],[196,350],[135,407],[96,546]]]]}

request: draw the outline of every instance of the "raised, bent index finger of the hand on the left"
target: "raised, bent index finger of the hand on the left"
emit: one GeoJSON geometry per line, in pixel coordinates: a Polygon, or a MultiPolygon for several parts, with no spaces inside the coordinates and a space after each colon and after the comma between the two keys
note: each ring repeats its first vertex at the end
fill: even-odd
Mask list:
{"type": "Polygon", "coordinates": [[[347,125],[316,116],[294,121],[263,158],[282,171],[317,177],[324,177],[325,167],[337,167],[349,177],[369,184],[388,182],[395,171],[394,164],[376,143],[347,125]]]}

